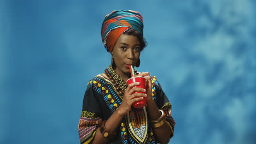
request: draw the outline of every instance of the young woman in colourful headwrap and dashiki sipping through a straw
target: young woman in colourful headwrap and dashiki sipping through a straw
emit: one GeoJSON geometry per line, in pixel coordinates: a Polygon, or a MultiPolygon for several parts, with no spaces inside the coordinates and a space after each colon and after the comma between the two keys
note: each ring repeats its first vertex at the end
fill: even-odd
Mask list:
{"type": "Polygon", "coordinates": [[[146,46],[142,15],[132,10],[115,10],[102,24],[102,41],[112,55],[112,64],[90,80],[86,89],[78,130],[81,143],[168,143],[173,136],[171,104],[155,76],[146,78],[146,89],[131,78],[129,65],[139,67],[146,46]],[[135,93],[135,92],[146,92],[135,93]],[[146,98],[146,106],[132,104],[146,98]]]}

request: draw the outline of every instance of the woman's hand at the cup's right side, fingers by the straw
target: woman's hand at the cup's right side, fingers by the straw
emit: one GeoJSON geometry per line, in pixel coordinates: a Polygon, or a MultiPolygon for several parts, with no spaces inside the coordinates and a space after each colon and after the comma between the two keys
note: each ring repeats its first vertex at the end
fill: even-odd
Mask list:
{"type": "Polygon", "coordinates": [[[151,77],[148,72],[139,73],[138,75],[134,76],[142,76],[146,79],[146,94],[147,94],[147,101],[152,100],[152,82],[151,77]]]}

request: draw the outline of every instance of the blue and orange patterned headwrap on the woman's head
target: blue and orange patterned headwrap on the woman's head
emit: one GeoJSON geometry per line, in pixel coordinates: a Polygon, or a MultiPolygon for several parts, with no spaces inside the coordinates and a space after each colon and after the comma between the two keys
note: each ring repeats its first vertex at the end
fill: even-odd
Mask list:
{"type": "Polygon", "coordinates": [[[133,10],[114,10],[105,16],[101,27],[102,42],[108,52],[112,52],[119,36],[133,28],[143,35],[143,17],[133,10]]]}

